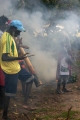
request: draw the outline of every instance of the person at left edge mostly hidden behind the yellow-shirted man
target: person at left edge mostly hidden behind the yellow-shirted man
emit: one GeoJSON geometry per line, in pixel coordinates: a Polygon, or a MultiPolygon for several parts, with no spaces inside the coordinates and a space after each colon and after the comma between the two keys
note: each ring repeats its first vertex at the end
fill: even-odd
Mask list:
{"type": "MultiPolygon", "coordinates": [[[[3,32],[6,30],[6,23],[8,22],[8,18],[4,15],[0,16],[0,39],[3,34],[3,32]]],[[[1,47],[0,47],[1,48],[1,47]]],[[[0,50],[1,51],[1,50],[0,50]]],[[[0,54],[1,55],[1,54],[0,54]]],[[[1,59],[0,59],[0,109],[3,108],[4,104],[4,74],[1,70],[1,59]]]]}

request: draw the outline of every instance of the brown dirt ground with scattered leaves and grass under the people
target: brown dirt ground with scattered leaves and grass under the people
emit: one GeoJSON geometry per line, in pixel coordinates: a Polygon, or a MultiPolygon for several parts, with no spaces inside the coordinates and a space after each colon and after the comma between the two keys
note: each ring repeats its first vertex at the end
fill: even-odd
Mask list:
{"type": "MultiPolygon", "coordinates": [[[[18,93],[11,98],[9,117],[11,120],[80,120],[80,80],[67,84],[72,92],[58,95],[55,93],[54,83],[33,88],[29,105],[36,107],[35,111],[23,109],[24,97],[21,93],[21,84],[18,84],[18,93]],[[68,109],[71,108],[68,117],[68,109]],[[68,118],[67,118],[68,117],[68,118]]],[[[0,120],[2,110],[0,110],[0,120]]]]}

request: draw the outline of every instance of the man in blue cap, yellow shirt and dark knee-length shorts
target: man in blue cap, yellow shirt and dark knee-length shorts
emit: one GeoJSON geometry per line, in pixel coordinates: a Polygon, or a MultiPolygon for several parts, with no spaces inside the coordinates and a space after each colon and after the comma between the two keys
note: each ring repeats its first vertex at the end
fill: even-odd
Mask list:
{"type": "Polygon", "coordinates": [[[18,73],[20,65],[18,60],[26,58],[26,54],[18,57],[16,43],[14,37],[25,31],[19,20],[12,20],[7,32],[1,37],[1,69],[5,75],[5,99],[2,120],[9,120],[7,117],[10,97],[15,96],[17,92],[18,73]]]}

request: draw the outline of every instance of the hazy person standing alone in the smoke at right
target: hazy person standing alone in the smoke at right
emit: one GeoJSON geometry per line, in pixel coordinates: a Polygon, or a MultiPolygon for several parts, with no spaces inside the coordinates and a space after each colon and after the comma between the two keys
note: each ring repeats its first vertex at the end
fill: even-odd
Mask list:
{"type": "Polygon", "coordinates": [[[69,77],[69,64],[71,64],[71,57],[69,56],[65,44],[62,44],[62,50],[59,53],[58,63],[57,63],[57,73],[56,73],[56,80],[57,80],[57,93],[61,94],[63,92],[70,92],[66,88],[66,82],[69,77]],[[60,89],[61,83],[63,80],[63,88],[62,91],[60,89]]]}

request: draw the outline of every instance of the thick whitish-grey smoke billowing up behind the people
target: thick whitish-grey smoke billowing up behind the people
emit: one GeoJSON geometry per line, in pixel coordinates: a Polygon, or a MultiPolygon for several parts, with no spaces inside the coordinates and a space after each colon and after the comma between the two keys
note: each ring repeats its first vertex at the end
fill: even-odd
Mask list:
{"type": "MultiPolygon", "coordinates": [[[[60,42],[64,38],[61,31],[65,29],[70,36],[69,40],[72,40],[71,34],[75,34],[79,28],[79,17],[76,12],[65,11],[63,14],[61,13],[62,16],[60,18],[58,17],[58,10],[54,8],[52,11],[49,11],[40,2],[36,2],[36,4],[39,4],[37,5],[39,9],[38,7],[35,8],[36,5],[34,4],[33,12],[23,8],[16,10],[14,6],[17,2],[14,0],[14,4],[12,4],[12,1],[0,0],[0,15],[6,15],[10,19],[22,21],[26,29],[25,33],[21,33],[23,43],[30,47],[28,51],[31,54],[35,54],[30,60],[39,78],[44,81],[53,80],[56,75],[57,63],[55,55],[60,48],[60,42]],[[64,29],[60,28],[59,25],[62,25],[64,29]]],[[[33,2],[32,0],[30,1],[33,2]]]]}

